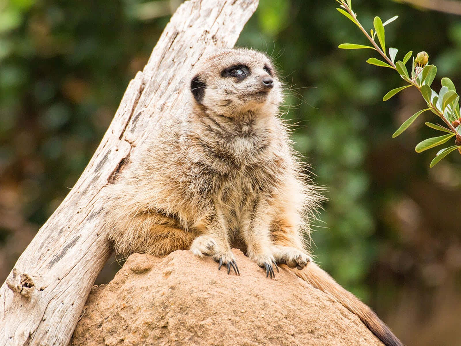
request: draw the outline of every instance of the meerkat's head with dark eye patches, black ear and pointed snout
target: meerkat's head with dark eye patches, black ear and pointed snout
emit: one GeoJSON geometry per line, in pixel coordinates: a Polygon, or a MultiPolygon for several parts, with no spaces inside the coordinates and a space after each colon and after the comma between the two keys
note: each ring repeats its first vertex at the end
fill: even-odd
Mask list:
{"type": "Polygon", "coordinates": [[[245,48],[218,49],[195,66],[190,90],[201,106],[235,117],[276,114],[282,86],[266,55],[245,48]]]}

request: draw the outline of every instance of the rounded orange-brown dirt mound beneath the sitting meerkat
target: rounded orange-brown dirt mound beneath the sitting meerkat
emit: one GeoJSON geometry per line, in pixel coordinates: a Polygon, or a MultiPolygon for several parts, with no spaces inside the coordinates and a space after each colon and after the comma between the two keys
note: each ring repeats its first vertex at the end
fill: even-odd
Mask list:
{"type": "Polygon", "coordinates": [[[234,250],[241,276],[188,251],[134,254],[94,286],[71,345],[374,345],[357,316],[284,269],[234,250]]]}

